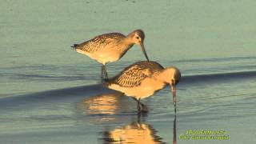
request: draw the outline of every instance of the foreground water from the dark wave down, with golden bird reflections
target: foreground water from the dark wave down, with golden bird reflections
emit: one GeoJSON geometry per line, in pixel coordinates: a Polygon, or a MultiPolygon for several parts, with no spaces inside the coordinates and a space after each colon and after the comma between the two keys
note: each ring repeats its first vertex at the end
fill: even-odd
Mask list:
{"type": "MultiPolygon", "coordinates": [[[[235,75],[183,78],[178,86],[177,143],[254,142],[256,72],[235,75]],[[186,130],[225,130],[230,139],[179,138],[186,130]]],[[[1,98],[0,137],[4,143],[172,143],[169,90],[143,102],[150,112],[138,116],[133,99],[100,85],[1,98]]]]}

